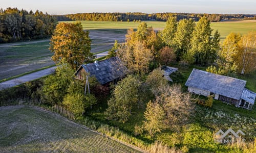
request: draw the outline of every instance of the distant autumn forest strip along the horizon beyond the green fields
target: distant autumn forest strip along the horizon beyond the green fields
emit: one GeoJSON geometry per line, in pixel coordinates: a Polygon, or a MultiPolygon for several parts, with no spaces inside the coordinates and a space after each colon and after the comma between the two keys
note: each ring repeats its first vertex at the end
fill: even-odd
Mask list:
{"type": "Polygon", "coordinates": [[[77,13],[67,15],[54,15],[58,21],[90,20],[90,21],[127,21],[127,20],[157,20],[166,21],[170,16],[176,16],[177,20],[192,18],[198,21],[200,17],[207,16],[210,21],[224,19],[244,19],[254,17],[249,14],[195,14],[195,13],[77,13]]]}

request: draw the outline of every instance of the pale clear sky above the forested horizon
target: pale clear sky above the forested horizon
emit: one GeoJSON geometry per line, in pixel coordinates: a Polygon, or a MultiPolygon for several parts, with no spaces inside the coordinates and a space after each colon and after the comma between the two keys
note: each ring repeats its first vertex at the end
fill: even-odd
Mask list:
{"type": "Polygon", "coordinates": [[[0,0],[0,8],[8,7],[47,12],[74,14],[89,12],[178,12],[256,14],[256,0],[0,0]]]}

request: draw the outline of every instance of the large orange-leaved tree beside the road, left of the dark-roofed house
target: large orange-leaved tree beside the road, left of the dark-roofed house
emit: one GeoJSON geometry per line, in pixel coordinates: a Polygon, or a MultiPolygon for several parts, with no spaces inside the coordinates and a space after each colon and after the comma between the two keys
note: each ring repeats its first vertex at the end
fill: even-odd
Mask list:
{"type": "Polygon", "coordinates": [[[53,61],[58,63],[61,59],[65,59],[73,68],[83,62],[91,62],[95,58],[90,52],[89,32],[82,30],[80,22],[59,23],[50,40],[50,50],[54,53],[53,61]]]}

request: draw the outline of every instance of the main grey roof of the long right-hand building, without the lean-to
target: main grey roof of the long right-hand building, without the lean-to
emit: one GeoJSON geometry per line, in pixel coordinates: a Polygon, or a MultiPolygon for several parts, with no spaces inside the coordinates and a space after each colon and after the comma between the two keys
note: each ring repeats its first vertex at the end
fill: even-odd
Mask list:
{"type": "Polygon", "coordinates": [[[193,69],[186,86],[207,90],[226,97],[239,100],[244,90],[246,81],[214,74],[198,69],[193,69]]]}

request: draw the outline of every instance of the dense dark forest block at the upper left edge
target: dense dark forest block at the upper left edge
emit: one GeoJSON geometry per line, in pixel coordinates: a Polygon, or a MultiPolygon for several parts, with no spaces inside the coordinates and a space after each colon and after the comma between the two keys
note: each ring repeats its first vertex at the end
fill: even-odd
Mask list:
{"type": "Polygon", "coordinates": [[[55,17],[38,10],[0,9],[0,43],[50,37],[56,24],[55,17]]]}

